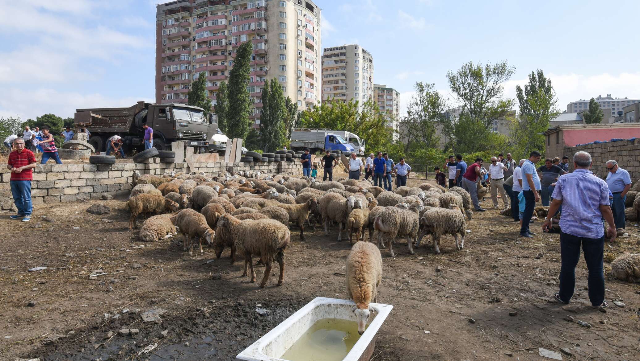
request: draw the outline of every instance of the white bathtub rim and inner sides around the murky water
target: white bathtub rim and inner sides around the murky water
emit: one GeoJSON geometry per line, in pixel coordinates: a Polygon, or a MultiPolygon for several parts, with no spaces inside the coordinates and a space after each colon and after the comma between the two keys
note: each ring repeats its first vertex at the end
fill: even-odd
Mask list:
{"type": "MultiPolygon", "coordinates": [[[[367,361],[371,358],[376,346],[376,334],[380,326],[393,308],[392,305],[383,303],[370,303],[375,312],[375,317],[369,319],[368,327],[364,334],[353,346],[343,361],[367,361]]],[[[355,303],[337,298],[316,297],[296,313],[289,316],[275,326],[273,330],[253,342],[236,356],[236,360],[244,361],[288,361],[280,358],[287,349],[298,341],[316,321],[323,318],[340,318],[355,321],[353,307],[355,303]]]]}

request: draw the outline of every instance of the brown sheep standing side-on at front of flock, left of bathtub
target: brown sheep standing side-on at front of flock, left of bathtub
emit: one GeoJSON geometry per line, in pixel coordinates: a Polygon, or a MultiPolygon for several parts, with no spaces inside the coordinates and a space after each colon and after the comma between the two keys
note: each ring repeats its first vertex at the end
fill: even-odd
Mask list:
{"type": "Polygon", "coordinates": [[[291,232],[287,229],[287,226],[273,219],[241,221],[225,214],[220,217],[218,227],[230,231],[233,235],[237,252],[244,255],[243,276],[246,277],[247,266],[250,266],[251,282],[255,282],[251,256],[256,255],[260,257],[260,261],[264,264],[264,278],[260,288],[264,288],[269,279],[273,261],[280,263],[278,286],[282,286],[284,281],[284,250],[291,242],[291,232]]]}

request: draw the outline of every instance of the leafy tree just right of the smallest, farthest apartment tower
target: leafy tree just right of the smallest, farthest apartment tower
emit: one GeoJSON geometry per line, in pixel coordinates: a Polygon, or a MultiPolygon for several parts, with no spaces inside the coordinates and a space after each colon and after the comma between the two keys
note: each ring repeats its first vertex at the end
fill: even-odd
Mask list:
{"type": "Polygon", "coordinates": [[[406,117],[401,121],[404,141],[407,147],[412,142],[419,142],[423,148],[435,147],[440,141],[436,130],[444,122],[444,100],[433,84],[416,82],[413,89],[416,95],[407,105],[406,117]]]}

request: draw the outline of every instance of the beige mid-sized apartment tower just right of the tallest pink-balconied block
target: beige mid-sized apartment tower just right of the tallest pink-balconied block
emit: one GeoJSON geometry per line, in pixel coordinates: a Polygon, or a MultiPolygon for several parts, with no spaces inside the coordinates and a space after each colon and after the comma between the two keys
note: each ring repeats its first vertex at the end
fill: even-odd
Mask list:
{"type": "Polygon", "coordinates": [[[373,57],[360,45],[324,48],[322,99],[360,104],[374,98],[373,57]]]}

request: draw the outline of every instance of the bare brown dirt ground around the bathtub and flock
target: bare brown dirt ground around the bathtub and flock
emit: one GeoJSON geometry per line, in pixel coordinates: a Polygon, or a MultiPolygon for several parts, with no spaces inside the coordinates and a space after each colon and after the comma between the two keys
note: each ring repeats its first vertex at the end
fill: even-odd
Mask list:
{"type": "MultiPolygon", "coordinates": [[[[489,198],[484,206],[491,208],[489,198]]],[[[260,289],[259,282],[241,277],[241,258],[230,265],[228,250],[216,259],[208,248],[204,256],[188,256],[180,236],[138,242],[127,229],[122,200],[42,204],[29,224],[8,215],[0,215],[1,360],[234,360],[314,297],[347,297],[349,242],[337,242],[335,228],[328,237],[320,227],[305,232],[305,242],[293,228],[283,286],[275,286],[275,266],[260,289]],[[87,213],[94,203],[111,213],[87,213]],[[28,271],[38,266],[47,269],[28,271]],[[90,277],[100,273],[106,274],[90,277]],[[259,316],[256,307],[270,314],[259,316]],[[161,321],[143,321],[141,312],[149,309],[166,313],[161,321]],[[140,333],[120,336],[122,328],[140,333]],[[138,355],[152,342],[156,349],[138,355]]],[[[413,255],[404,241],[394,246],[394,258],[381,250],[378,302],[394,309],[372,359],[549,360],[538,355],[541,347],[566,349],[571,355],[563,353],[564,360],[639,360],[640,284],[611,279],[605,264],[606,299],[626,305],[593,310],[580,261],[571,303],[577,307],[550,302],[557,291],[559,236],[543,234],[540,226],[532,227],[534,238],[519,238],[515,222],[489,210],[467,223],[464,250],[455,249],[451,236],[443,238],[440,255],[426,238],[413,255]]],[[[638,229],[628,224],[627,231],[629,238],[605,249],[612,255],[638,252],[638,229]]],[[[256,268],[259,280],[263,270],[256,268]]]]}

